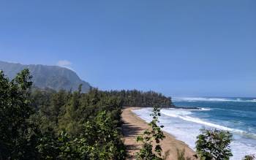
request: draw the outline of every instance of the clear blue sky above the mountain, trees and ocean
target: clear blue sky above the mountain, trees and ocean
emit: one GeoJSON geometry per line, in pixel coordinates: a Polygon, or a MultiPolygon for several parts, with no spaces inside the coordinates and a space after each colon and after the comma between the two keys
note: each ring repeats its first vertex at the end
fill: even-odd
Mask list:
{"type": "Polygon", "coordinates": [[[256,1],[1,0],[0,60],[100,89],[256,96],[256,1]]]}

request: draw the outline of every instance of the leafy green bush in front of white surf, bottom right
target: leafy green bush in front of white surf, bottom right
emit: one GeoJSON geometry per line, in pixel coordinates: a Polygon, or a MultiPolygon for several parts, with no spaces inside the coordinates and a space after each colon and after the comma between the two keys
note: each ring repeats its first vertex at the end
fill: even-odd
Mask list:
{"type": "Polygon", "coordinates": [[[201,129],[197,136],[196,149],[201,159],[229,159],[233,156],[230,150],[232,134],[217,129],[201,129]]]}

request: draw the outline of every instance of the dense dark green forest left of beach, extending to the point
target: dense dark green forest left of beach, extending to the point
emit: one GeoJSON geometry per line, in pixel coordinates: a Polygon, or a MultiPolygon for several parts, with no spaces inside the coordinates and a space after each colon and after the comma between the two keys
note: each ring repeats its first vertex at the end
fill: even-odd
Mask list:
{"type": "Polygon", "coordinates": [[[0,159],[125,159],[121,106],[170,106],[154,92],[31,90],[24,69],[0,73],[0,159]]]}

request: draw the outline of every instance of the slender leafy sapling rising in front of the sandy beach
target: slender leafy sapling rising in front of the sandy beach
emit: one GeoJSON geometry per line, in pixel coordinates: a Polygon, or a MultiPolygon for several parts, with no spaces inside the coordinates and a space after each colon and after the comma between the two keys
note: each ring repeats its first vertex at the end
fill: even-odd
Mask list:
{"type": "Polygon", "coordinates": [[[148,126],[150,126],[151,129],[147,129],[143,133],[143,136],[137,137],[137,141],[143,143],[142,148],[140,148],[140,152],[137,153],[137,159],[162,159],[162,148],[159,145],[159,143],[160,140],[163,140],[165,138],[165,135],[161,130],[161,128],[163,128],[164,126],[158,126],[158,117],[161,116],[159,107],[154,107],[151,116],[153,120],[148,124],[148,126]],[[154,148],[153,142],[155,142],[156,144],[154,148]]]}

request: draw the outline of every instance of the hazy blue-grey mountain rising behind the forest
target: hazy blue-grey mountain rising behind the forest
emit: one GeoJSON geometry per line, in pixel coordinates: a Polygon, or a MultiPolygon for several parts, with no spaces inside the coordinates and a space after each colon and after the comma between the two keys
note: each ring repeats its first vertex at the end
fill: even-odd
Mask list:
{"type": "Polygon", "coordinates": [[[34,85],[38,88],[51,88],[56,91],[60,89],[75,91],[80,84],[83,85],[82,91],[87,92],[91,88],[89,83],[80,80],[78,75],[70,69],[60,66],[45,65],[23,65],[0,61],[0,70],[4,71],[10,79],[23,69],[29,69],[33,75],[34,85]]]}

